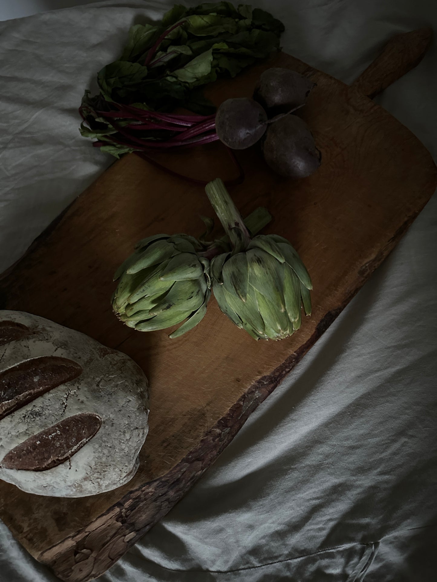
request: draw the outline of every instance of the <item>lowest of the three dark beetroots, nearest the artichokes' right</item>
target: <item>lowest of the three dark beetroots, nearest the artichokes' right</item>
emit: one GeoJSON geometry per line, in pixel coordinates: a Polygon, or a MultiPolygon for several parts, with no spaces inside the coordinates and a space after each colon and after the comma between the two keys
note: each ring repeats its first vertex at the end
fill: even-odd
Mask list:
{"type": "Polygon", "coordinates": [[[296,115],[286,115],[269,125],[262,151],[270,168],[286,178],[306,178],[320,165],[312,133],[296,115]]]}

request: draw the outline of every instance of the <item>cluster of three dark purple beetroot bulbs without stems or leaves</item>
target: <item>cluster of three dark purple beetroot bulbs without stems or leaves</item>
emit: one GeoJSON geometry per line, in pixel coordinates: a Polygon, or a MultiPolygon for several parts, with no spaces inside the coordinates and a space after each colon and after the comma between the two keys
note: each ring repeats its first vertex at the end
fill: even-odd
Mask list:
{"type": "Polygon", "coordinates": [[[267,69],[252,99],[228,99],[217,109],[218,138],[232,150],[259,141],[274,172],[287,178],[310,176],[320,165],[320,151],[308,125],[292,113],[305,104],[313,87],[312,81],[290,69],[267,69]]]}

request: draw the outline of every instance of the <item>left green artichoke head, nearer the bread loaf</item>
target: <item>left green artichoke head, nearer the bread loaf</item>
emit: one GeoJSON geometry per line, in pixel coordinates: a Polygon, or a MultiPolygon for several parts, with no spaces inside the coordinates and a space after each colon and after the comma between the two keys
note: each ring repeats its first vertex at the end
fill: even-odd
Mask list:
{"type": "Polygon", "coordinates": [[[202,320],[210,297],[210,261],[203,245],[188,235],[155,235],[140,240],[119,267],[112,307],[129,327],[156,331],[177,325],[177,338],[202,320]]]}

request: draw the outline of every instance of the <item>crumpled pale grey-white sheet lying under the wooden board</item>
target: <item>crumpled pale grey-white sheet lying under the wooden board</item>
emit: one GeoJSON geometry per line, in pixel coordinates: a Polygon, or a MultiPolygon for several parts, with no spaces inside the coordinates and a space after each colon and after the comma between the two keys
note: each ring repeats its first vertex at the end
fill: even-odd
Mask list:
{"type": "MultiPolygon", "coordinates": [[[[186,2],[195,4],[197,2],[186,2]]],[[[346,82],[429,0],[257,0],[284,49],[346,82]]],[[[101,2],[0,24],[0,271],[112,162],[77,126],[133,22],[101,2]]],[[[437,155],[437,49],[378,101],[437,155]]],[[[437,198],[191,492],[101,582],[431,582],[437,550],[437,198]]],[[[0,524],[0,580],[48,582],[0,524]]]]}

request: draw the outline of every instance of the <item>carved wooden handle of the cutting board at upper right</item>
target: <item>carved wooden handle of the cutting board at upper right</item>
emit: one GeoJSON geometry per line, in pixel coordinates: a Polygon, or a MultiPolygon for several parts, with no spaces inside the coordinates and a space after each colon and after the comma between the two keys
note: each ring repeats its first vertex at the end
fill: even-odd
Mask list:
{"type": "Polygon", "coordinates": [[[351,87],[373,99],[422,60],[432,40],[432,29],[412,30],[390,38],[382,53],[360,74],[351,87]]]}

